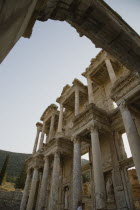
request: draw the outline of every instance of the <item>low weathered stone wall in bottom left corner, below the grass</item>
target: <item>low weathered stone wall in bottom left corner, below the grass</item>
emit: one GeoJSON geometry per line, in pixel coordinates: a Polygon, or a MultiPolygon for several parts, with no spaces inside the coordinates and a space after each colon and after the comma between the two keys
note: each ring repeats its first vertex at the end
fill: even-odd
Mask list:
{"type": "Polygon", "coordinates": [[[22,192],[19,191],[0,191],[1,210],[19,210],[22,192]]]}

